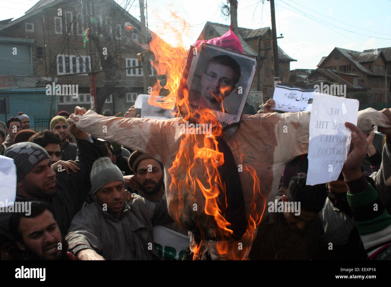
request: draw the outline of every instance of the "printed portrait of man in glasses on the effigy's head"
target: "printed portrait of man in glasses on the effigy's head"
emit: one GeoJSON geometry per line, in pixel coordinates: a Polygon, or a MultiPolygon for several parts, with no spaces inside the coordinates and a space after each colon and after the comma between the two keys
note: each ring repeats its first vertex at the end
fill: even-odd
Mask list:
{"type": "MultiPolygon", "coordinates": [[[[193,63],[192,63],[193,64],[193,63]]],[[[227,55],[224,52],[203,48],[197,59],[194,75],[191,78],[189,102],[202,111],[202,108],[240,115],[240,105],[244,99],[253,60],[240,55],[227,55]],[[201,109],[200,109],[201,107],[201,109]]]]}

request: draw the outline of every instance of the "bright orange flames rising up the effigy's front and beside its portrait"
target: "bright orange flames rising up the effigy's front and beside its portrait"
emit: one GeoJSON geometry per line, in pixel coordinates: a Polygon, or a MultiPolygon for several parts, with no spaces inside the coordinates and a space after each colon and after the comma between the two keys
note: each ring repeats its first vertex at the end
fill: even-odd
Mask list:
{"type": "MultiPolygon", "coordinates": [[[[171,12],[176,21],[182,23],[183,30],[175,30],[168,23],[165,23],[165,29],[175,32],[175,37],[181,39],[183,33],[188,29],[189,25],[186,21],[174,12],[171,12]]],[[[183,122],[194,122],[192,119],[188,90],[186,86],[186,78],[188,71],[185,69],[187,63],[187,49],[183,47],[172,47],[163,41],[156,34],[152,33],[152,41],[148,48],[155,55],[155,60],[152,62],[159,76],[165,75],[167,81],[164,86],[161,82],[156,82],[152,87],[152,93],[149,97],[149,104],[164,109],[172,109],[176,106],[179,108],[183,116],[183,122]],[[182,77],[185,73],[184,77],[182,77]],[[158,97],[161,89],[167,89],[169,94],[164,98],[158,97]]],[[[216,115],[210,110],[204,110],[197,122],[204,124],[213,124],[212,136],[206,137],[205,134],[185,134],[181,139],[181,145],[176,155],[176,159],[169,168],[169,173],[172,178],[170,190],[178,190],[179,194],[175,194],[176,199],[168,202],[168,208],[171,216],[182,227],[199,226],[201,221],[207,220],[211,223],[209,230],[200,229],[201,242],[191,241],[191,249],[194,252],[194,259],[199,259],[202,256],[203,249],[209,246],[209,249],[214,247],[210,243],[210,239],[217,239],[215,248],[219,255],[228,255],[231,259],[244,259],[248,248],[251,245],[255,236],[256,226],[262,219],[265,210],[266,196],[260,193],[260,183],[256,176],[255,169],[246,165],[246,171],[251,174],[254,180],[253,200],[251,201],[251,210],[248,216],[248,225],[246,233],[240,239],[242,249],[238,248],[238,242],[234,241],[231,235],[233,231],[230,229],[231,223],[224,218],[224,212],[227,207],[226,199],[221,200],[220,190],[226,191],[226,187],[219,174],[219,167],[224,164],[224,154],[217,148],[217,138],[224,135],[221,125],[217,125],[216,115]],[[202,170],[200,170],[200,167],[202,170]],[[184,171],[186,171],[184,173],[184,171]],[[200,191],[203,198],[201,198],[200,191]],[[263,198],[262,213],[256,212],[256,204],[259,196],[263,198]],[[219,200],[220,198],[220,200],[219,200]],[[197,209],[197,206],[202,206],[203,209],[197,209]],[[206,216],[205,216],[206,214],[206,216]],[[213,218],[213,220],[210,220],[213,218]],[[217,226],[215,226],[217,225],[217,226]]],[[[223,197],[225,198],[225,196],[223,197]]],[[[259,207],[258,207],[259,209],[259,207]]]]}

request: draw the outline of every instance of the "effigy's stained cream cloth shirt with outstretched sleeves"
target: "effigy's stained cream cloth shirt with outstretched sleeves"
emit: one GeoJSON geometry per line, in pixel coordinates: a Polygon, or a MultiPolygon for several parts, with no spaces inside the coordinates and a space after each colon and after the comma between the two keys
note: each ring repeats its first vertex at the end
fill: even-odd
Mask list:
{"type": "MultiPolygon", "coordinates": [[[[189,152],[194,149],[191,143],[188,146],[180,146],[181,139],[185,137],[181,134],[179,127],[182,118],[158,120],[104,117],[91,110],[84,116],[77,117],[79,121],[76,122],[76,127],[90,133],[93,137],[114,141],[133,150],[156,155],[156,159],[160,160],[164,166],[164,182],[170,216],[183,228],[194,230],[197,226],[204,236],[211,238],[215,236],[215,229],[219,227],[213,216],[205,213],[205,198],[199,187],[197,185],[171,185],[173,178],[179,182],[191,176],[198,178],[207,186],[206,168],[201,160],[199,162],[197,159],[195,162],[183,161],[180,163],[181,166],[174,170],[170,169],[180,148],[188,149],[189,152]],[[189,164],[194,165],[195,174],[187,175],[189,164]],[[196,210],[194,210],[194,203],[197,204],[196,210]]],[[[274,201],[285,163],[298,155],[308,153],[309,121],[310,112],[284,114],[274,112],[242,116],[237,132],[227,139],[226,142],[233,153],[236,164],[242,165],[242,172],[239,172],[239,176],[246,219],[260,219],[267,202],[274,201]],[[259,179],[258,191],[254,191],[255,180],[249,170],[256,172],[259,179]]],[[[371,108],[360,111],[358,127],[364,134],[373,129],[372,125],[391,127],[387,117],[381,112],[371,108]]],[[[204,135],[194,135],[195,138],[197,136],[204,137],[204,135]]],[[[192,182],[194,181],[190,180],[188,184],[192,185],[192,182]]],[[[248,222],[251,223],[251,220],[248,222]]],[[[243,246],[251,246],[256,236],[256,228],[251,230],[252,232],[246,232],[237,242],[241,242],[243,246]]],[[[237,242],[231,239],[228,244],[233,252],[237,253],[235,258],[246,258],[249,248],[240,250],[237,248],[237,242]]]]}

